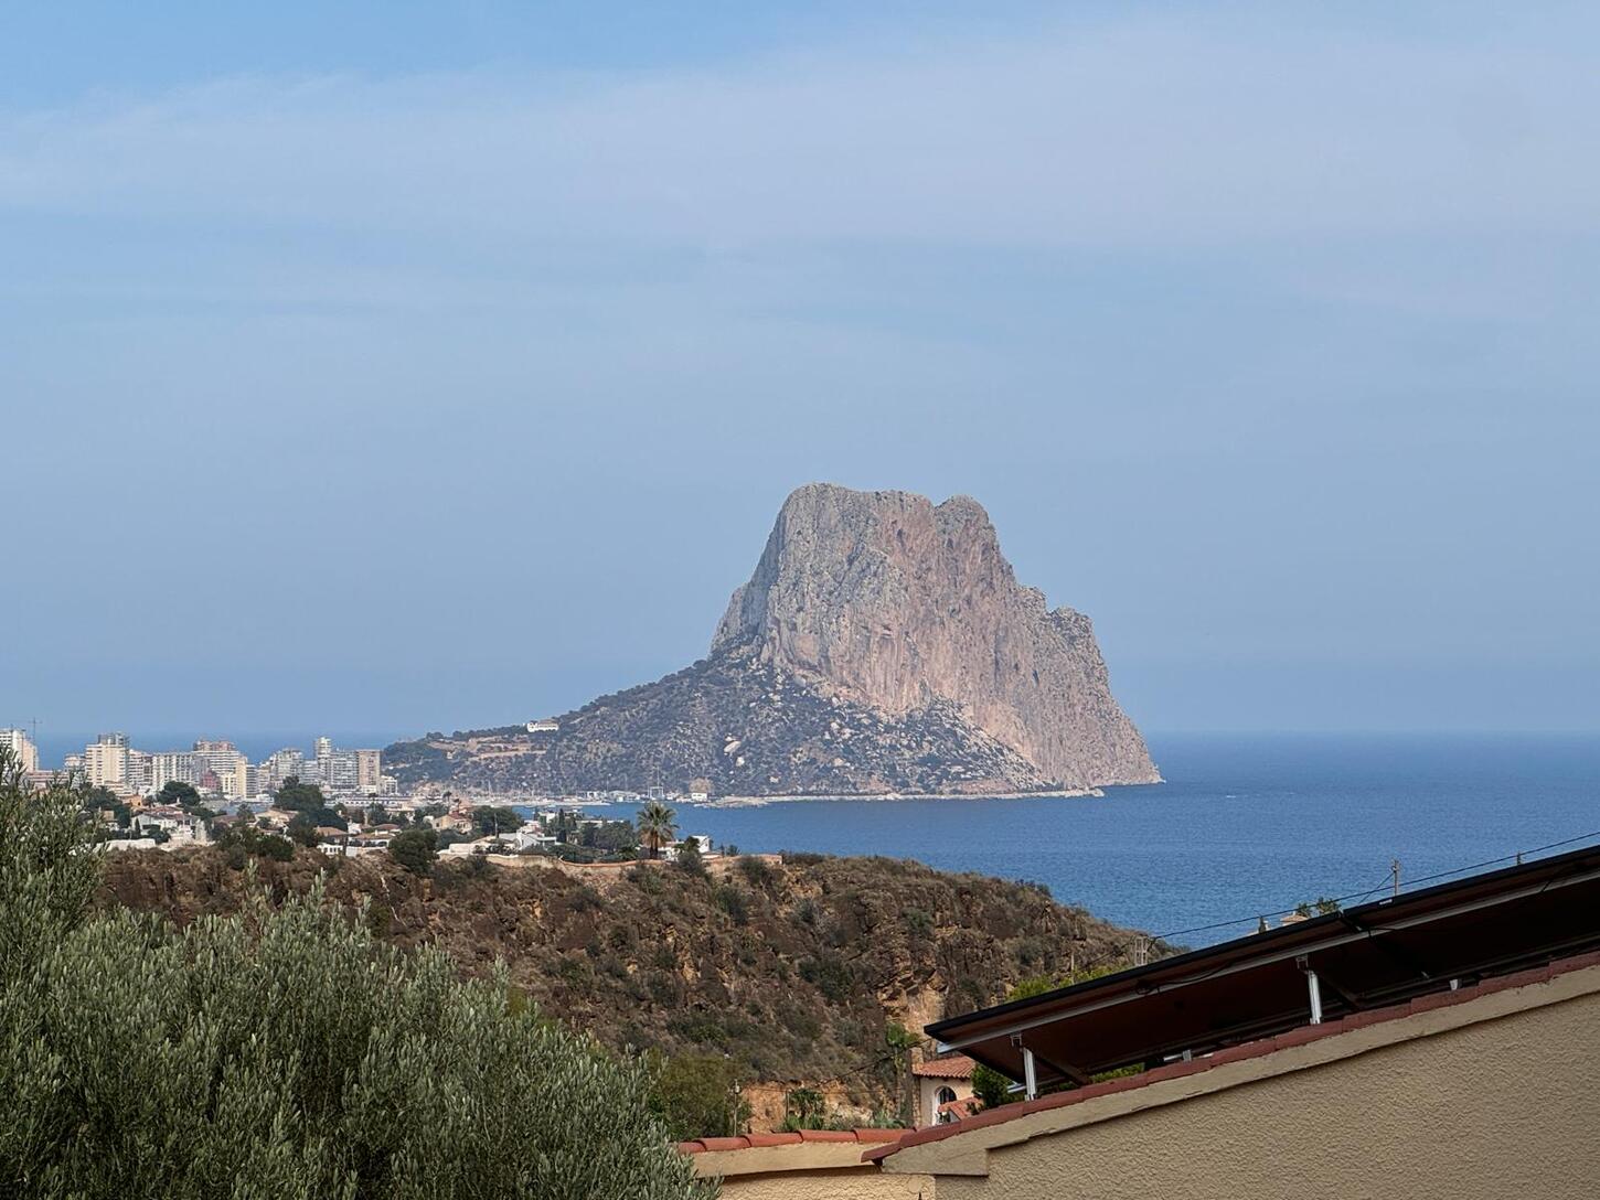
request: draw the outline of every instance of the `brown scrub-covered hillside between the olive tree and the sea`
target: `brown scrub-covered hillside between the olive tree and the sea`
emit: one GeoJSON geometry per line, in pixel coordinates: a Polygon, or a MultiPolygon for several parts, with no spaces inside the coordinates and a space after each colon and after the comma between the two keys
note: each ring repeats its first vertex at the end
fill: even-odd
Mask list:
{"type": "MultiPolygon", "coordinates": [[[[384,856],[259,862],[280,896],[328,891],[398,946],[435,942],[466,971],[504,962],[547,1014],[624,1050],[715,1053],[747,1078],[893,1086],[890,1022],[910,1029],[995,1002],[1021,979],[1117,962],[1133,938],[1043,888],[885,858],[741,859],[718,877],[648,864],[560,869],[384,856]],[[597,874],[597,872],[592,872],[597,874]]],[[[245,877],[211,850],[110,859],[102,902],[179,923],[232,912],[245,877]]]]}

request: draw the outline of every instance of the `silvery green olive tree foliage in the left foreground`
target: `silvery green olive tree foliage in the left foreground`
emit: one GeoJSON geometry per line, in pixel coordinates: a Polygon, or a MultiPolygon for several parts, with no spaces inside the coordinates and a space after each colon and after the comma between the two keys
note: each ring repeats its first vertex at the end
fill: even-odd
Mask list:
{"type": "Polygon", "coordinates": [[[643,1067],[310,896],[85,917],[69,787],[0,763],[0,1195],[712,1197],[643,1067]]]}

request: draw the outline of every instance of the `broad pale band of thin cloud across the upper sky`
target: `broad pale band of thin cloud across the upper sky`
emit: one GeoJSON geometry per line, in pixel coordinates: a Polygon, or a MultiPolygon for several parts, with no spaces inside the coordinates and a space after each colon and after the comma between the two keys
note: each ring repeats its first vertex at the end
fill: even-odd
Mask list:
{"type": "Polygon", "coordinates": [[[0,203],[702,246],[1594,232],[1589,67],[1579,38],[1134,19],[725,69],[230,78],[5,115],[0,203]]]}

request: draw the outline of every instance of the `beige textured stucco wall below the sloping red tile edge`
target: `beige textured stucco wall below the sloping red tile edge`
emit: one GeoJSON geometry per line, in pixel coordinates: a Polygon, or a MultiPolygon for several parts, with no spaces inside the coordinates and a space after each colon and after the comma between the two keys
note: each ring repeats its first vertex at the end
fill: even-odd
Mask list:
{"type": "MultiPolygon", "coordinates": [[[[1392,1024],[1410,1022],[1410,1037],[1387,1045],[1376,1043],[1395,1030],[1382,1026],[1328,1038],[1346,1043],[1346,1056],[1330,1061],[1315,1061],[1330,1045],[1283,1050],[1269,1056],[1278,1070],[1283,1056],[1312,1066],[1221,1090],[1213,1080],[1211,1091],[1162,1107],[1126,1112],[1138,1093],[1086,1101],[1061,1114],[1104,1106],[1114,1115],[1030,1141],[1000,1144],[1008,1125],[1062,1117],[994,1126],[987,1154],[965,1150],[966,1170],[986,1166],[987,1176],[941,1174],[938,1200],[1600,1195],[1600,995],[1566,992],[1536,1008],[1496,1002],[1499,1011],[1472,1024],[1448,1010],[1406,1018],[1392,1024]],[[1346,1038],[1370,1048],[1350,1056],[1346,1038]]],[[[1150,1091],[1158,1086],[1168,1085],[1150,1091]]],[[[917,1149],[954,1163],[971,1136],[917,1149]]]]}

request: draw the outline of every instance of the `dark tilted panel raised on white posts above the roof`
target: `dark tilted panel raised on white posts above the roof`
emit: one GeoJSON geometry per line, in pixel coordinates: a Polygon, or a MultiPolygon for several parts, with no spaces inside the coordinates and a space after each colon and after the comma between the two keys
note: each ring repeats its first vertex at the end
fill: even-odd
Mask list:
{"type": "Polygon", "coordinates": [[[1600,949],[1600,846],[1470,875],[1238,938],[926,1032],[1006,1077],[1032,1051],[1038,1082],[1270,1038],[1310,1024],[1306,971],[1328,1021],[1600,949]]]}

